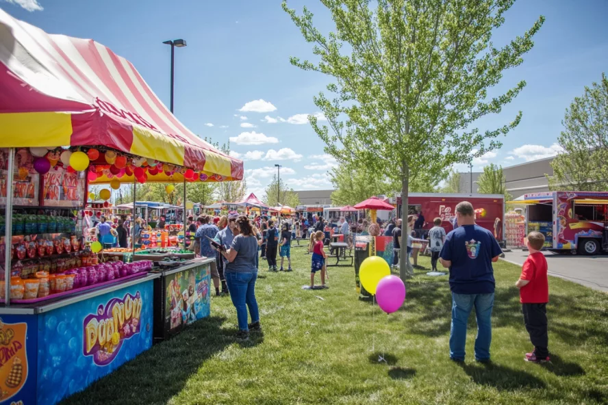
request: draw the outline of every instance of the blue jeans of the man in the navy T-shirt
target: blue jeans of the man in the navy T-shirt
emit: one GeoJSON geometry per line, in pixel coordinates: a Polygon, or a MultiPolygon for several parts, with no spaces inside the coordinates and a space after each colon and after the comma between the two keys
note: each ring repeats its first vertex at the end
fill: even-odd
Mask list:
{"type": "Polygon", "coordinates": [[[494,293],[490,294],[457,294],[452,293],[452,326],[450,330],[450,357],[463,360],[465,356],[466,324],[471,310],[475,307],[477,318],[477,338],[475,339],[475,359],[490,359],[490,342],[492,341],[492,307],[494,293]]]}

